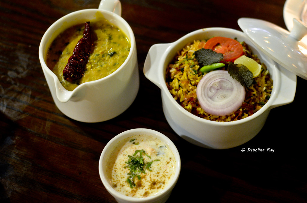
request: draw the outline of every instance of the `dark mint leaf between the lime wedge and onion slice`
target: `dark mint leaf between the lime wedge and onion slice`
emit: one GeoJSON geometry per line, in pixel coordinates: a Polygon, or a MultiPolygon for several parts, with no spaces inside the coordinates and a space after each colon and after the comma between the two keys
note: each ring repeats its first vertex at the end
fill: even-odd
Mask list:
{"type": "Polygon", "coordinates": [[[228,73],[233,79],[236,79],[242,86],[247,88],[254,82],[253,73],[242,64],[233,64],[229,62],[228,73]]]}

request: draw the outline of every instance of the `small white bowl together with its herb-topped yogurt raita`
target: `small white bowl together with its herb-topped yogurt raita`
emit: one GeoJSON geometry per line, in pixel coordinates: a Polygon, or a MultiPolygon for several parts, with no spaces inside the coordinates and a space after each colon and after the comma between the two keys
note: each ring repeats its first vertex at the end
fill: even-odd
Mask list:
{"type": "Polygon", "coordinates": [[[179,152],[172,141],[144,128],[115,136],[99,160],[103,185],[118,202],[165,202],[180,169],[179,152]]]}

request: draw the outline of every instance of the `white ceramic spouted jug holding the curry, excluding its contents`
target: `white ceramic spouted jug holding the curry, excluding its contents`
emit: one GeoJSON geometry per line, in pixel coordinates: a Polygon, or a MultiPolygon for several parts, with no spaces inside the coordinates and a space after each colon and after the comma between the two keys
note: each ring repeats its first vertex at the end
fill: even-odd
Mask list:
{"type": "Polygon", "coordinates": [[[79,10],[61,17],[44,34],[39,47],[39,59],[56,106],[66,116],[82,122],[100,122],[123,113],[134,101],[139,89],[139,73],[134,33],[120,16],[118,0],[101,0],[98,9],[79,10]],[[45,60],[52,41],[65,29],[97,20],[103,16],[121,29],[131,43],[126,61],[112,74],[79,85],[75,90],[66,90],[47,67],[45,60]]]}

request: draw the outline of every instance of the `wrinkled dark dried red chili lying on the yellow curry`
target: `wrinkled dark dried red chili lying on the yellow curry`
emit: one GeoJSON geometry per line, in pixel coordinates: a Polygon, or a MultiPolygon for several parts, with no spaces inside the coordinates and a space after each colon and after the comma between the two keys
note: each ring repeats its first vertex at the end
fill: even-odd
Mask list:
{"type": "Polygon", "coordinates": [[[71,82],[80,79],[83,76],[84,69],[90,56],[91,46],[90,22],[85,22],[83,37],[76,44],[72,56],[69,57],[68,63],[63,70],[65,80],[71,82]]]}

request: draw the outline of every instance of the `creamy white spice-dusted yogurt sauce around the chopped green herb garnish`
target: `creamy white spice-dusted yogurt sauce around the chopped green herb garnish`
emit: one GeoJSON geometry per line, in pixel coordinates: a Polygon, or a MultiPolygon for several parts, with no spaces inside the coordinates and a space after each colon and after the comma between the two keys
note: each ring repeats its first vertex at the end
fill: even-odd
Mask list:
{"type": "MultiPolygon", "coordinates": [[[[139,156],[139,153],[137,154],[139,156]]],[[[137,156],[136,155],[136,156],[137,156]]],[[[153,196],[163,190],[172,180],[176,171],[176,161],[173,152],[161,140],[150,135],[132,136],[120,142],[112,151],[107,163],[107,177],[111,180],[115,190],[130,197],[153,196]],[[131,141],[133,140],[134,141],[131,141]],[[130,173],[128,155],[133,155],[136,150],[144,150],[146,155],[142,155],[144,162],[153,161],[149,170],[145,174],[140,173],[141,179],[134,177],[135,186],[130,187],[127,178],[130,173]],[[159,160],[159,161],[155,161],[159,160]]]]}

